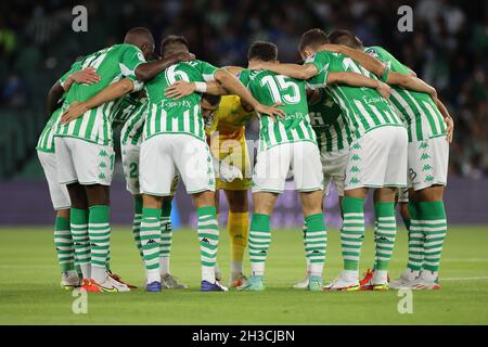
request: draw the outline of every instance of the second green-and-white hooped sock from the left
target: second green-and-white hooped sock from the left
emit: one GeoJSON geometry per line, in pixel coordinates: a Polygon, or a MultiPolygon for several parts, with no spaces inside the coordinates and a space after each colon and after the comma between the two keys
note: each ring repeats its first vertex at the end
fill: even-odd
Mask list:
{"type": "Polygon", "coordinates": [[[88,210],[72,208],[69,216],[73,243],[75,244],[76,262],[81,269],[84,279],[91,279],[90,239],[88,236],[88,210]]]}

